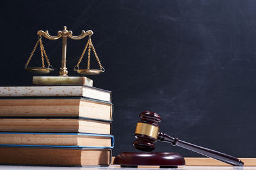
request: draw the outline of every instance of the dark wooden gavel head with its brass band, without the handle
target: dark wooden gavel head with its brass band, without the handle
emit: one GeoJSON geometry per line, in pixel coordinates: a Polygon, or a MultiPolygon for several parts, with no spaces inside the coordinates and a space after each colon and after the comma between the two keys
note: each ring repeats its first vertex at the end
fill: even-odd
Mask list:
{"type": "Polygon", "coordinates": [[[136,140],[133,142],[133,146],[138,150],[150,152],[155,149],[154,142],[157,141],[158,123],[161,122],[161,117],[157,113],[143,111],[140,113],[140,118],[141,120],[136,126],[136,140]]]}

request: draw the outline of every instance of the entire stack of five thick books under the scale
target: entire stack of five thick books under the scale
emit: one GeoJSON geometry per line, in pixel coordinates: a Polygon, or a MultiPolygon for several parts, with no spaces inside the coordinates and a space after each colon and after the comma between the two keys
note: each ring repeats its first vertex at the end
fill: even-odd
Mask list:
{"type": "Polygon", "coordinates": [[[0,164],[108,166],[112,120],[108,90],[0,87],[0,164]]]}

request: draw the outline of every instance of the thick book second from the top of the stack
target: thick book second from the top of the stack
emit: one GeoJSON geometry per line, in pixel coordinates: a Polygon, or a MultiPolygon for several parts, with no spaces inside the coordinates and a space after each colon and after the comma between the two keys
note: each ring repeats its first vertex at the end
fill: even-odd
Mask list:
{"type": "Polygon", "coordinates": [[[0,98],[0,117],[86,117],[113,119],[113,104],[83,97],[0,98]]]}

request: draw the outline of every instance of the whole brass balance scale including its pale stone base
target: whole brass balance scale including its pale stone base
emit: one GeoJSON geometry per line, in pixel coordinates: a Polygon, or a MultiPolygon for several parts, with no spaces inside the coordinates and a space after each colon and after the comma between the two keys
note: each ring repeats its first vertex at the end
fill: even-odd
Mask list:
{"type": "Polygon", "coordinates": [[[44,45],[42,43],[42,36],[47,39],[60,39],[62,37],[62,59],[61,59],[61,68],[60,68],[60,75],[59,76],[33,76],[33,84],[41,84],[41,85],[74,85],[74,84],[83,84],[84,79],[85,81],[88,81],[89,84],[92,84],[92,80],[86,77],[77,77],[68,76],[68,71],[66,67],[66,57],[67,57],[67,38],[70,39],[83,39],[86,36],[88,36],[88,41],[86,45],[84,46],[84,50],[77,62],[77,65],[74,66],[74,71],[76,71],[79,74],[83,75],[97,75],[100,73],[104,73],[105,69],[102,67],[102,64],[100,63],[100,59],[96,53],[95,47],[92,43],[92,35],[93,31],[82,31],[79,36],[73,36],[72,31],[68,31],[67,27],[64,26],[62,31],[58,31],[57,36],[51,36],[48,31],[38,31],[38,40],[36,41],[35,47],[33,48],[31,55],[29,56],[28,61],[26,62],[25,69],[26,71],[29,71],[30,73],[37,73],[37,74],[47,74],[51,73],[51,71],[54,71],[53,67],[51,66],[50,60],[45,52],[44,45]],[[42,67],[29,67],[29,62],[32,59],[37,46],[40,46],[40,52],[41,52],[41,60],[42,60],[42,67]],[[79,65],[81,63],[81,60],[84,57],[84,53],[86,53],[86,50],[88,49],[88,60],[87,60],[87,68],[81,69],[79,68],[79,65]],[[91,69],[90,68],[90,57],[91,57],[91,50],[93,51],[97,62],[99,64],[100,69],[91,69]],[[47,67],[45,67],[45,60],[47,62],[47,67]]]}

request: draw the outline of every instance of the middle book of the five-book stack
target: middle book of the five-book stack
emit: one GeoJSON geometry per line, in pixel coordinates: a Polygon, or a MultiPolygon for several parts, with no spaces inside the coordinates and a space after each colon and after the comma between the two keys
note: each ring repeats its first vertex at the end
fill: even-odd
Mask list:
{"type": "Polygon", "coordinates": [[[81,132],[110,134],[111,122],[85,118],[0,118],[0,132],[81,132]]]}

